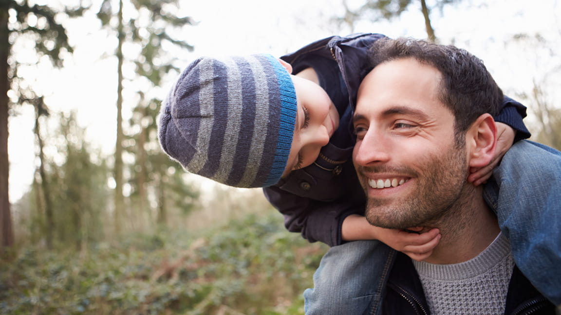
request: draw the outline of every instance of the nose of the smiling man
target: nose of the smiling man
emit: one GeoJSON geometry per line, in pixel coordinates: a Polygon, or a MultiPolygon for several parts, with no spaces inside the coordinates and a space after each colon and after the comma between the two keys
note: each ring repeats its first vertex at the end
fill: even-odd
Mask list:
{"type": "Polygon", "coordinates": [[[353,151],[355,164],[367,166],[373,163],[385,163],[389,160],[391,145],[383,136],[377,135],[374,130],[366,133],[362,140],[358,140],[353,151]]]}

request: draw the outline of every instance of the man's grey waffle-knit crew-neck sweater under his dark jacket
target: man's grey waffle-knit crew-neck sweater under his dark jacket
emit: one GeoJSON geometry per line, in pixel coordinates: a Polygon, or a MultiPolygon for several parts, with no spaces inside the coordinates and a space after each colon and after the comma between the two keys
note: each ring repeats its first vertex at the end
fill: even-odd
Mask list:
{"type": "Polygon", "coordinates": [[[502,233],[475,258],[451,265],[413,261],[432,314],[503,314],[514,261],[502,233]]]}

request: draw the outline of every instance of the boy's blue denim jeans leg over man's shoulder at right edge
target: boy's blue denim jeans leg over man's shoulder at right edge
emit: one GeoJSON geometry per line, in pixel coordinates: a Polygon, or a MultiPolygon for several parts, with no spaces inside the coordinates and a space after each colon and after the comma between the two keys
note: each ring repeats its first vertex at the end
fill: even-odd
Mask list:
{"type": "Polygon", "coordinates": [[[518,141],[493,179],[485,185],[484,197],[511,241],[514,262],[561,307],[561,152],[518,141]]]}

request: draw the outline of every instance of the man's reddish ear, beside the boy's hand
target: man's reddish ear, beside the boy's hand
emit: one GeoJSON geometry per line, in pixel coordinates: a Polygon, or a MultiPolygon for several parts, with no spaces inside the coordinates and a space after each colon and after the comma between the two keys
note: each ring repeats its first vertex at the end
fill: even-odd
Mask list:
{"type": "Polygon", "coordinates": [[[496,125],[490,114],[482,114],[477,118],[466,133],[466,141],[470,150],[470,167],[487,166],[495,155],[496,125]]]}

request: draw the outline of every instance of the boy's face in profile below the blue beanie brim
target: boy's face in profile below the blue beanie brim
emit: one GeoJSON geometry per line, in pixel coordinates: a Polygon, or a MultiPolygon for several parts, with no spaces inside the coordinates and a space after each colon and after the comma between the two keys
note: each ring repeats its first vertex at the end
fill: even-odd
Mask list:
{"type": "Polygon", "coordinates": [[[321,147],[339,126],[339,113],[327,93],[305,78],[292,76],[298,101],[292,147],[283,177],[318,158],[321,147]]]}

